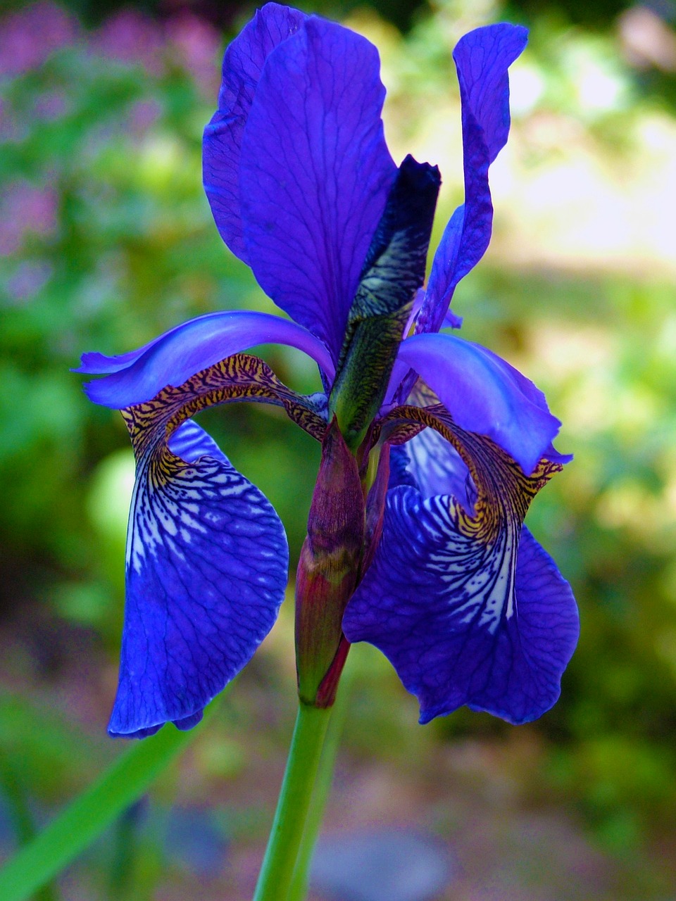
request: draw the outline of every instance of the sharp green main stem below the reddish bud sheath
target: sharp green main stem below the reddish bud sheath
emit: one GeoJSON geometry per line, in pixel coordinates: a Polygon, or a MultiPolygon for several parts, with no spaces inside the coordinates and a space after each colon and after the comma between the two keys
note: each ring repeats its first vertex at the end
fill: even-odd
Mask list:
{"type": "Polygon", "coordinates": [[[288,899],[331,712],[331,707],[299,702],[287,769],[253,901],[288,899]]]}

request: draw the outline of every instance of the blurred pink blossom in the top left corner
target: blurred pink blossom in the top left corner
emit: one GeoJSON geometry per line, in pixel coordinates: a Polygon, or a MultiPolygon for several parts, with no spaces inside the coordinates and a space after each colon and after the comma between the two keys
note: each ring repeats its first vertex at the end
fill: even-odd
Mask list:
{"type": "Polygon", "coordinates": [[[73,17],[49,0],[5,16],[0,21],[0,77],[41,66],[54,50],[77,36],[73,17]]]}

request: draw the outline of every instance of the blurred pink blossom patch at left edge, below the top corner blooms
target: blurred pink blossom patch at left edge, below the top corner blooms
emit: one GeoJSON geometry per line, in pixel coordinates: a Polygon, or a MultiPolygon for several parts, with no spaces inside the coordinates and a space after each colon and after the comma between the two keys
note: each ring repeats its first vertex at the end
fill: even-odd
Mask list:
{"type": "Polygon", "coordinates": [[[59,200],[50,187],[15,181],[0,199],[0,256],[9,256],[22,245],[26,232],[48,235],[56,231],[59,200]]]}

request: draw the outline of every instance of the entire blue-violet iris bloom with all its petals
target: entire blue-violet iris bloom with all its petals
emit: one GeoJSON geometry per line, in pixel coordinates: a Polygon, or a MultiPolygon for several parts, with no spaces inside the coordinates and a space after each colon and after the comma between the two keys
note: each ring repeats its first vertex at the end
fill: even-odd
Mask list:
{"type": "Polygon", "coordinates": [[[78,371],[104,377],[87,396],[122,411],[137,464],[112,735],[196,724],[277,617],[282,523],[191,419],[244,400],[282,407],[324,450],[339,423],[362,473],[379,460],[342,641],[387,655],[421,722],[469,705],[522,723],[559,696],[577,610],[523,523],[569,459],[553,449],[560,423],[507,362],[439,333],[458,324],[454,288],[489,244],[488,171],[525,42],[496,24],[454,50],[465,202],[425,290],[439,175],[390,157],[377,50],[268,4],[225,51],[206,194],[225,243],[289,318],[207,314],[139,350],[82,358],[78,371]],[[298,395],[245,352],[270,342],[313,359],[324,392],[298,395]]]}

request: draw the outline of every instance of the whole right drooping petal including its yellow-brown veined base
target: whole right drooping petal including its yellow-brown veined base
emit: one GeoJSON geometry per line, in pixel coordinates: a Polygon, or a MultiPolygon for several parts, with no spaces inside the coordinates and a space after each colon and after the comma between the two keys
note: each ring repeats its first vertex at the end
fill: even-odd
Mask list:
{"type": "Polygon", "coordinates": [[[522,525],[561,465],[542,460],[525,477],[492,441],[432,409],[399,415],[451,441],[477,486],[476,503],[467,509],[411,486],[390,490],[379,548],[343,631],[383,651],[418,697],[421,723],[461,705],[525,723],[558,698],[579,632],[570,586],[522,525]]]}

